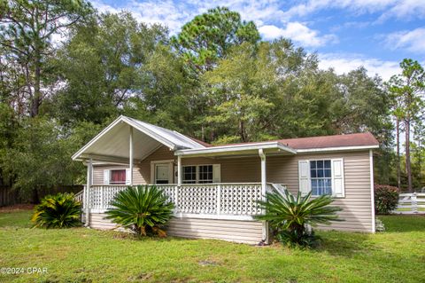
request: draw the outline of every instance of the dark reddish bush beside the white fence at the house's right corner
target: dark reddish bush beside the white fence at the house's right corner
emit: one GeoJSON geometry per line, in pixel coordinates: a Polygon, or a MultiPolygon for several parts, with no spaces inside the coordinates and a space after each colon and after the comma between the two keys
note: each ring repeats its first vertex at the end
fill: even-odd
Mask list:
{"type": "Polygon", "coordinates": [[[390,214],[397,208],[398,188],[392,185],[375,184],[375,212],[376,214],[390,214]]]}

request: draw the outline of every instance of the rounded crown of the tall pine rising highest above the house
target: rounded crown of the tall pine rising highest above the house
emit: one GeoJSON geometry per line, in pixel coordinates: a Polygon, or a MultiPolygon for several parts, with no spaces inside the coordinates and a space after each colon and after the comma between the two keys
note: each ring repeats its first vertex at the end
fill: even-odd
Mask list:
{"type": "Polygon", "coordinates": [[[190,20],[172,40],[189,67],[202,74],[225,58],[232,46],[257,43],[259,39],[252,21],[243,21],[238,12],[217,7],[190,20]]]}

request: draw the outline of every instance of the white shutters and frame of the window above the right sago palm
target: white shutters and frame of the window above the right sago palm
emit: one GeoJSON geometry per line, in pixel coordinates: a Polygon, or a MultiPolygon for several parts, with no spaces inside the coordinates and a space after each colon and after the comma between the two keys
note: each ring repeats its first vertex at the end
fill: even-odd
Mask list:
{"type": "MultiPolygon", "coordinates": [[[[310,167],[310,162],[311,161],[330,161],[330,170],[331,170],[331,190],[332,193],[330,194],[330,196],[332,196],[333,198],[337,198],[337,199],[342,199],[345,198],[345,174],[344,174],[344,158],[313,158],[313,159],[309,159],[309,160],[299,160],[298,161],[298,190],[303,190],[301,193],[302,195],[306,195],[307,193],[312,191],[312,177],[311,177],[311,167],[310,167]],[[336,168],[335,168],[335,163],[336,162],[340,162],[340,170],[339,176],[336,176],[336,168]],[[302,164],[307,164],[307,172],[306,172],[306,176],[302,176],[303,172],[302,172],[302,164]],[[307,180],[306,184],[305,184],[305,180],[307,180]],[[340,192],[336,193],[336,181],[338,181],[338,184],[341,185],[340,187],[340,192]],[[305,184],[305,187],[302,187],[302,185],[305,184]]],[[[315,177],[317,178],[317,177],[315,177]]],[[[305,186],[304,185],[304,186],[305,186]]],[[[320,195],[313,195],[313,197],[319,197],[320,195]]]]}

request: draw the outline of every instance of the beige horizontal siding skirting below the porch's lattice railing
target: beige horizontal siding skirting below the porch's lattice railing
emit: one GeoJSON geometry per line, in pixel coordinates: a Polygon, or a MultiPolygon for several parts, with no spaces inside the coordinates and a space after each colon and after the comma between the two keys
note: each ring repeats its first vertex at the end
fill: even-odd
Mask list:
{"type": "MultiPolygon", "coordinates": [[[[90,214],[90,227],[113,230],[116,224],[104,218],[103,213],[90,214]]],[[[262,224],[257,221],[173,218],[166,232],[170,236],[193,239],[219,239],[258,244],[262,239],[262,224]]]]}

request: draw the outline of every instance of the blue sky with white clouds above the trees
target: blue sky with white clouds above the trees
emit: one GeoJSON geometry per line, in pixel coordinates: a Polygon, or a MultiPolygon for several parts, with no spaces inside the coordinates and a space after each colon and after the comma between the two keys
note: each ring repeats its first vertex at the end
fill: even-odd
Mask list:
{"type": "Polygon", "coordinates": [[[338,74],[363,66],[384,80],[399,73],[402,59],[425,65],[425,0],[94,0],[99,12],[132,12],[161,23],[172,35],[197,14],[216,6],[252,20],[263,40],[283,36],[319,55],[319,67],[338,74]]]}

